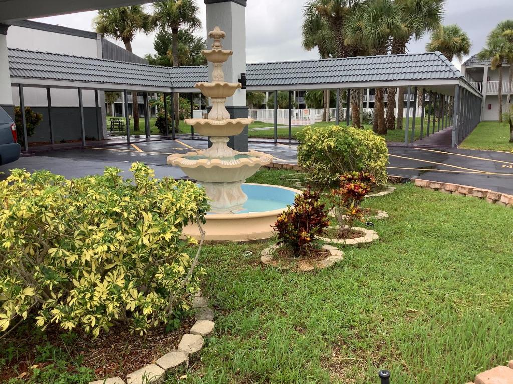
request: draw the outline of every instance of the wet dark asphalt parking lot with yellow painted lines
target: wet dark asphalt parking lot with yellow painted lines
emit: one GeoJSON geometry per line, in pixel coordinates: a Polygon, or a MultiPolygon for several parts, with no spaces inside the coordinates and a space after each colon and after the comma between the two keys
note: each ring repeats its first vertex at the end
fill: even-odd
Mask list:
{"type": "MultiPolygon", "coordinates": [[[[179,179],[185,174],[179,168],[167,165],[167,157],[206,147],[206,140],[191,140],[189,137],[176,141],[41,152],[0,166],[0,172],[8,173],[12,168],[26,168],[29,172],[48,169],[66,178],[76,178],[101,174],[106,166],[113,166],[122,169],[123,176],[129,177],[131,163],[140,161],[151,166],[157,178],[179,179]]],[[[274,162],[297,164],[297,146],[294,144],[275,145],[265,140],[251,141],[249,147],[271,154],[274,162]]],[[[463,184],[513,195],[513,154],[510,153],[391,146],[389,156],[388,173],[392,176],[463,184]]],[[[0,175],[2,178],[5,175],[0,175]]]]}

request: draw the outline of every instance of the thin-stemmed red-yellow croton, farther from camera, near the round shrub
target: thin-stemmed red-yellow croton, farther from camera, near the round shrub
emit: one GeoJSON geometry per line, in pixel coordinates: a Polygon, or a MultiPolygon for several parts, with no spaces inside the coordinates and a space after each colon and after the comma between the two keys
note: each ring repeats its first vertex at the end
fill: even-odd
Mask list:
{"type": "Polygon", "coordinates": [[[357,221],[363,220],[360,208],[363,199],[376,185],[374,177],[365,172],[350,172],[339,178],[339,188],[331,191],[333,213],[339,223],[338,237],[344,239],[357,221]]]}

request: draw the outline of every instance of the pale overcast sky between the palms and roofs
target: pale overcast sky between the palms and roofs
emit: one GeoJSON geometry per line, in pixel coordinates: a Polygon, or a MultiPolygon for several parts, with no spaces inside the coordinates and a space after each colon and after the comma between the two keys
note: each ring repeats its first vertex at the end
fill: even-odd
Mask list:
{"type": "MultiPolygon", "coordinates": [[[[201,9],[201,19],[206,25],[203,0],[196,0],[201,9]]],[[[247,61],[289,61],[318,58],[316,51],[306,52],[301,47],[301,20],[306,0],[249,0],[246,12],[247,61]]],[[[151,11],[151,6],[147,6],[151,11]]],[[[60,25],[92,31],[92,20],[96,12],[75,13],[36,19],[41,23],[60,25]]],[[[513,0],[446,0],[444,24],[458,24],[472,41],[471,54],[483,47],[486,35],[501,20],[513,18],[513,0]]],[[[198,31],[206,36],[207,31],[198,31]]],[[[144,57],[155,53],[153,36],[138,34],[133,43],[136,55],[144,57]]],[[[425,51],[427,36],[410,44],[411,53],[425,51]]],[[[123,44],[116,42],[123,47],[123,44]]],[[[460,67],[460,63],[455,61],[460,67]]]]}

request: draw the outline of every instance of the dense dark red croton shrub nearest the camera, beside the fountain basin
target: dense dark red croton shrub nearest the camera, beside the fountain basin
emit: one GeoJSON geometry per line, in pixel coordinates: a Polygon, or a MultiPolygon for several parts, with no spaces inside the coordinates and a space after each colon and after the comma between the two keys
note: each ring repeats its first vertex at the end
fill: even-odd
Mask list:
{"type": "Polygon", "coordinates": [[[295,197],[292,207],[278,217],[273,228],[278,244],[288,247],[298,258],[318,243],[328,226],[328,212],[320,200],[320,192],[312,192],[308,187],[295,197]]]}

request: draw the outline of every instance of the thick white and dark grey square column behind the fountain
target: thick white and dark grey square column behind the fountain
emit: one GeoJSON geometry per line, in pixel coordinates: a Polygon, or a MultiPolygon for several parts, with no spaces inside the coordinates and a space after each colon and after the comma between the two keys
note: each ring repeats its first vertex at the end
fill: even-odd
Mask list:
{"type": "MultiPolygon", "coordinates": [[[[215,27],[226,32],[223,48],[233,51],[233,56],[224,65],[225,81],[239,82],[241,74],[246,73],[246,4],[247,0],[205,0],[207,6],[207,33],[215,27]]],[[[213,40],[208,38],[210,48],[213,40]]],[[[211,63],[208,65],[209,81],[212,81],[211,63]]],[[[226,101],[226,109],[230,117],[248,117],[246,90],[238,90],[235,95],[226,101]]],[[[248,151],[248,129],[235,137],[230,138],[228,145],[237,151],[248,151]]]]}

